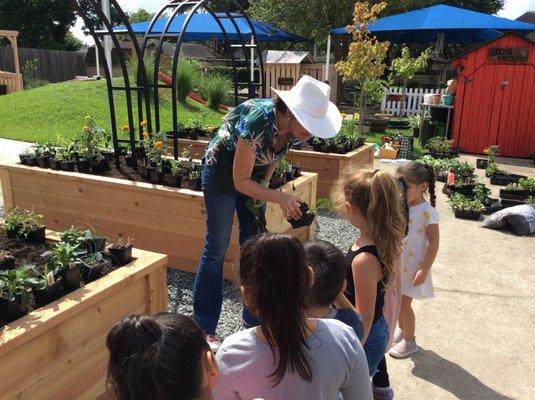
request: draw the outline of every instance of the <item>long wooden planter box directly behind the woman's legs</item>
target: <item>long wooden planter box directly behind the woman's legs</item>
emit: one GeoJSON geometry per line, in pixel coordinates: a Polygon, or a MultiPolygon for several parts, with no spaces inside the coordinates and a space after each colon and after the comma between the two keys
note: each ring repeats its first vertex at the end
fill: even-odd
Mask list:
{"type": "MultiPolygon", "coordinates": [[[[34,208],[55,230],[89,224],[111,238],[135,238],[136,247],[167,254],[169,266],[195,272],[205,237],[202,192],[123,179],[53,171],[20,164],[0,164],[4,205],[34,208]]],[[[316,204],[317,175],[303,173],[294,181],[295,194],[316,204]]],[[[282,190],[292,191],[292,184],[282,190]]],[[[268,230],[312,239],[315,224],[291,229],[280,207],[268,204],[268,230]]],[[[235,277],[238,223],[234,221],[224,276],[235,277]]]]}

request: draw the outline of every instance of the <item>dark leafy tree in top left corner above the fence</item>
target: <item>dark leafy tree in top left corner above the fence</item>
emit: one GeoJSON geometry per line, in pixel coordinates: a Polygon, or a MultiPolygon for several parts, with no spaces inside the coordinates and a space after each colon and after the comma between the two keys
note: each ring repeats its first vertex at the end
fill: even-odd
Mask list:
{"type": "Polygon", "coordinates": [[[21,47],[64,50],[75,21],[65,0],[0,0],[0,27],[19,31],[21,47]]]}

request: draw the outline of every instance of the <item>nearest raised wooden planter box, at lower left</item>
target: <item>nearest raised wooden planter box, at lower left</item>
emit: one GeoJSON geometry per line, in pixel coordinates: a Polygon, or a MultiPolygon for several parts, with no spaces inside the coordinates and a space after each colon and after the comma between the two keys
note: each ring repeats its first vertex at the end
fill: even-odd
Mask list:
{"type": "Polygon", "coordinates": [[[104,398],[111,327],[128,314],[167,311],[167,257],[132,255],[132,263],[0,328],[3,400],[104,398]]]}

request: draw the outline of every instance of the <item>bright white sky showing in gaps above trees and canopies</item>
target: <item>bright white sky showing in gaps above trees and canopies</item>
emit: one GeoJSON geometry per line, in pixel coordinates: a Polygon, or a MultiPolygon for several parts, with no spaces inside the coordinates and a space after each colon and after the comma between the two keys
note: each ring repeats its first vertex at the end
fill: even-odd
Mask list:
{"type": "MultiPolygon", "coordinates": [[[[147,11],[157,11],[167,0],[119,0],[119,5],[124,11],[136,11],[140,7],[147,11]]],[[[498,13],[498,16],[516,19],[524,14],[526,11],[535,11],[535,0],[506,0],[505,7],[498,13]]],[[[71,32],[83,42],[91,45],[93,38],[85,36],[82,32],[83,22],[78,19],[76,25],[71,29],[71,32]]]]}

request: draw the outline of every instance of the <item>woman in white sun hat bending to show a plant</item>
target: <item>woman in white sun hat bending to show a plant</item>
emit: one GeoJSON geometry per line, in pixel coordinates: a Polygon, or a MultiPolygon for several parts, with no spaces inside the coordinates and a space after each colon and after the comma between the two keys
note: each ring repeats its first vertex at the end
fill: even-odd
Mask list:
{"type": "MultiPolygon", "coordinates": [[[[223,297],[223,260],[234,213],[240,224],[240,245],[256,233],[255,216],[246,204],[250,199],[277,203],[285,217],[299,219],[301,200],[268,188],[277,162],[294,140],[330,138],[342,126],[338,108],[329,101],[329,85],[304,75],[291,90],[273,91],[275,99],[251,99],[231,110],[205,153],[206,238],[195,277],[193,310],[214,350],[219,345],[216,328],[223,297]]],[[[256,320],[244,310],[244,321],[255,324],[256,320]]]]}

